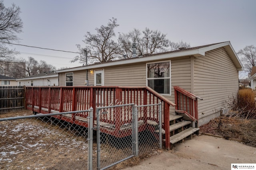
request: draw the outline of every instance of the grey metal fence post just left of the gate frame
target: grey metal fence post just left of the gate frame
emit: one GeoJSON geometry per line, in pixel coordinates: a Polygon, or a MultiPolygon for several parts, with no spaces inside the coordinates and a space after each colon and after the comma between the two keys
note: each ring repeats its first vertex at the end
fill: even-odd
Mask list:
{"type": "Polygon", "coordinates": [[[89,120],[89,125],[88,125],[88,170],[92,170],[92,144],[93,144],[93,108],[90,107],[90,113],[89,116],[87,117],[89,120]]]}

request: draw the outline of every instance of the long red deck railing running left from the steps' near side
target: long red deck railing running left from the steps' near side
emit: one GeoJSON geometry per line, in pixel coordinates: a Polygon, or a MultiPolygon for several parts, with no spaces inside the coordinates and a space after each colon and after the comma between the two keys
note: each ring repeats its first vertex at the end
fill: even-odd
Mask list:
{"type": "MultiPolygon", "coordinates": [[[[170,145],[169,114],[170,106],[175,106],[170,100],[164,98],[149,87],[121,87],[121,86],[86,86],[86,87],[26,87],[26,107],[38,113],[51,113],[54,111],[76,111],[94,108],[96,120],[96,107],[131,104],[138,106],[162,103],[162,127],[167,132],[166,143],[170,145]],[[168,133],[169,132],[169,133],[168,133]]],[[[158,106],[154,106],[158,107],[158,106]]],[[[109,117],[101,117],[100,121],[118,127],[132,121],[131,113],[112,114],[109,117]]],[[[76,113],[81,117],[87,117],[87,113],[76,113]]],[[[72,115],[74,120],[75,114],[72,115]]],[[[156,121],[159,123],[158,114],[148,114],[146,109],[138,113],[139,120],[156,121]]],[[[167,146],[168,147],[168,146],[167,146]]],[[[169,147],[168,147],[169,148],[169,147]]]]}

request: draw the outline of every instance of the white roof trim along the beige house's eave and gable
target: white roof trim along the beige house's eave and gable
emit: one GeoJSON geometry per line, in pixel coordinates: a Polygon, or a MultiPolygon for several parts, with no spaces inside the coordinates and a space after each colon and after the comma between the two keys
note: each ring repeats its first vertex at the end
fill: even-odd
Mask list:
{"type": "MultiPolygon", "coordinates": [[[[220,47],[225,47],[225,46],[229,46],[231,51],[234,53],[234,56],[236,58],[236,60],[238,60],[238,62],[235,63],[234,61],[234,57],[233,57],[233,61],[236,64],[237,68],[242,68],[242,63],[240,62],[240,60],[238,59],[238,56],[236,55],[236,53],[234,52],[233,47],[231,46],[230,42],[224,42],[224,43],[218,43],[215,45],[211,45],[208,47],[203,47],[203,48],[199,48],[199,49],[192,49],[192,50],[188,50],[188,51],[178,51],[176,53],[167,53],[167,54],[159,54],[159,55],[153,55],[153,56],[149,56],[149,57],[141,57],[141,58],[135,58],[135,59],[130,59],[130,60],[122,60],[122,61],[114,61],[114,62],[107,62],[107,63],[102,63],[102,64],[95,64],[95,65],[89,65],[89,66],[81,66],[81,67],[74,67],[74,68],[67,68],[64,70],[56,70],[56,73],[61,73],[61,72],[71,72],[71,71],[78,71],[78,70],[86,70],[86,69],[96,69],[96,68],[103,68],[103,67],[107,67],[107,66],[116,66],[116,65],[121,65],[121,64],[132,64],[132,63],[140,63],[140,62],[151,62],[151,61],[156,61],[156,60],[164,60],[164,59],[172,59],[175,57],[183,57],[183,56],[190,56],[190,55],[196,55],[196,56],[204,56],[206,51],[210,51],[213,49],[217,49],[220,47]]],[[[231,52],[230,51],[230,52],[231,52]]],[[[231,55],[231,54],[230,54],[231,55]]]]}

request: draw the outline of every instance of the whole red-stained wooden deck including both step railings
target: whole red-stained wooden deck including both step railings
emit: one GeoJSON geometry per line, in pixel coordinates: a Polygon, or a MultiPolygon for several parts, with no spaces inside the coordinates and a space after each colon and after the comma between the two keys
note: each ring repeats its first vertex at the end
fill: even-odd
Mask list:
{"type": "MultiPolygon", "coordinates": [[[[149,109],[142,108],[138,111],[138,131],[149,130],[155,133],[158,125],[158,113],[162,110],[162,128],[166,139],[166,149],[170,149],[170,122],[175,121],[170,114],[170,107],[184,110],[198,120],[198,97],[174,86],[175,103],[161,96],[149,87],[124,87],[124,86],[49,86],[26,87],[26,109],[36,113],[58,113],[93,108],[94,126],[96,126],[96,108],[120,104],[136,104],[146,106],[162,103],[162,108],[153,106],[149,109]],[[103,106],[104,105],[104,106],[103,106]]],[[[173,113],[174,114],[174,113],[173,113]]],[[[54,116],[70,123],[88,127],[88,113],[78,113],[63,116],[54,116]]],[[[122,113],[107,111],[100,117],[101,132],[125,137],[132,134],[132,112],[122,110],[122,113]]]]}

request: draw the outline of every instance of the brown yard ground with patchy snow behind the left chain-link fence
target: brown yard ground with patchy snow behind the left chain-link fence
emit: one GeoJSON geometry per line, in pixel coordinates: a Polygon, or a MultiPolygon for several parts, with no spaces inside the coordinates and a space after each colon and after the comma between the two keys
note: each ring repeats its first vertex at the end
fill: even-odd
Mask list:
{"type": "MultiPolygon", "coordinates": [[[[32,112],[0,114],[0,118],[18,115],[32,115],[32,112]]],[[[75,134],[42,123],[40,119],[2,121],[0,136],[0,169],[67,170],[72,167],[76,170],[87,167],[86,137],[73,137],[75,134]]]]}

